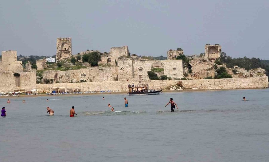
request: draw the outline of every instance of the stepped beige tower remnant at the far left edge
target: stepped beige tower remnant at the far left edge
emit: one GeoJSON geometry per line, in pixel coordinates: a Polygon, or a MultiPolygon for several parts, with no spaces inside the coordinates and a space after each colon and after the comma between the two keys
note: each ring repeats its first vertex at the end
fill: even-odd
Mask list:
{"type": "Polygon", "coordinates": [[[22,61],[17,61],[17,51],[2,51],[1,70],[23,72],[22,61]]]}

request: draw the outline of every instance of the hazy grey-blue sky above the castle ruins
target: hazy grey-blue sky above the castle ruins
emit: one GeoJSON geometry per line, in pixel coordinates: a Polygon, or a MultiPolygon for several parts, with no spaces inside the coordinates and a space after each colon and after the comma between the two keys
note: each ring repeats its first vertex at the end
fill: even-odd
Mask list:
{"type": "Polygon", "coordinates": [[[238,58],[269,59],[269,1],[237,0],[9,0],[0,4],[0,50],[56,54],[58,37],[72,38],[72,53],[127,45],[131,54],[185,55],[220,44],[238,58]]]}

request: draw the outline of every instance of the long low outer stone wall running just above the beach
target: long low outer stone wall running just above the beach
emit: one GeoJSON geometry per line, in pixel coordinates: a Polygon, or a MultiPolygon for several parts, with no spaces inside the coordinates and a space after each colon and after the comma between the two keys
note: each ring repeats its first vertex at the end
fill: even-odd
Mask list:
{"type": "MultiPolygon", "coordinates": [[[[201,79],[201,80],[154,80],[154,81],[137,81],[134,84],[149,84],[152,89],[164,89],[170,85],[175,85],[181,81],[184,88],[187,89],[244,89],[244,88],[267,88],[267,77],[253,78],[229,78],[229,79],[201,79]]],[[[62,83],[62,84],[36,84],[34,88],[39,91],[51,92],[53,87],[56,88],[80,88],[82,92],[86,91],[128,91],[128,84],[132,82],[125,81],[106,81],[106,82],[86,82],[86,83],[62,83]]]]}

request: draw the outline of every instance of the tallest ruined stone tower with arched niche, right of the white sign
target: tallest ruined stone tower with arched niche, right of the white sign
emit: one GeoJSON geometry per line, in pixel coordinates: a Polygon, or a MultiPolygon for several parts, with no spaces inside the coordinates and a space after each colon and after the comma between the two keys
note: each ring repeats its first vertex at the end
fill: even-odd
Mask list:
{"type": "Polygon", "coordinates": [[[71,58],[72,56],[71,38],[57,38],[56,48],[57,48],[56,61],[60,61],[65,58],[71,58]]]}

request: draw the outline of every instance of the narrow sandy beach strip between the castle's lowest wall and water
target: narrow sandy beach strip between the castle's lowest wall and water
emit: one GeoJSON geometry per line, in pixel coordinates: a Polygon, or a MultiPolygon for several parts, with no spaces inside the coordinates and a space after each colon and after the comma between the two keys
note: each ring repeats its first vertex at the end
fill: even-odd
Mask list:
{"type": "MultiPolygon", "coordinates": [[[[192,90],[192,89],[184,89],[184,90],[162,90],[163,92],[195,92],[195,91],[220,91],[220,90],[254,90],[254,89],[267,89],[267,88],[236,88],[236,89],[213,89],[213,90],[192,90]]],[[[95,93],[84,93],[82,92],[81,94],[57,94],[57,96],[62,95],[62,96],[73,96],[73,95],[108,95],[108,94],[126,94],[128,95],[129,91],[119,91],[119,92],[95,92],[95,93]]],[[[39,94],[39,95],[20,95],[20,96],[0,96],[0,97],[37,97],[37,96],[54,96],[54,95],[46,95],[44,93],[39,94]]]]}

